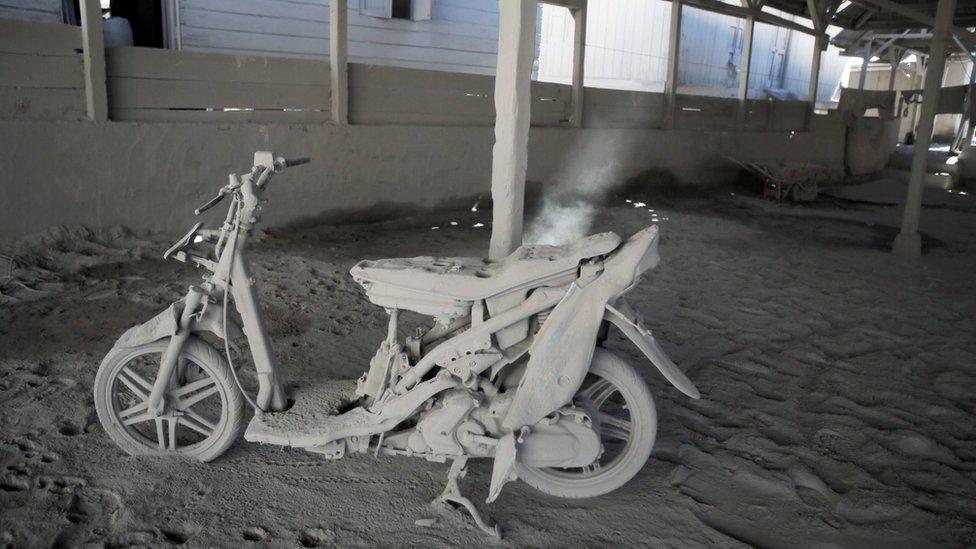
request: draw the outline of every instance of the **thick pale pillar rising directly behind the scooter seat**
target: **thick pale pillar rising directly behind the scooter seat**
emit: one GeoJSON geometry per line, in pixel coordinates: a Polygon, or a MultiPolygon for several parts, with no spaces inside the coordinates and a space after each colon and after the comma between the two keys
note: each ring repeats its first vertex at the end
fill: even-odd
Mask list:
{"type": "Polygon", "coordinates": [[[525,170],[529,156],[535,0],[498,3],[498,65],[495,70],[495,146],[491,158],[491,246],[501,259],[522,244],[525,170]]]}

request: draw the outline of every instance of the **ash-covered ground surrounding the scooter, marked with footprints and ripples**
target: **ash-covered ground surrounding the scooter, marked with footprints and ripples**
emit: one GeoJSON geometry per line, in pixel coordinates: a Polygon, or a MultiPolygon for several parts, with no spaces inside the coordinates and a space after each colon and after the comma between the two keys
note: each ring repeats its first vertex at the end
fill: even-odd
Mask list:
{"type": "MultiPolygon", "coordinates": [[[[918,262],[884,249],[895,208],[830,200],[620,197],[593,230],[632,233],[649,208],[663,262],[631,300],[702,399],[646,369],[660,431],[645,469],[593,500],[508,485],[488,509],[503,544],[976,544],[976,208],[927,208],[918,262]]],[[[487,218],[272,231],[252,257],[285,374],[365,367],[385,317],[348,276],[356,260],[472,255],[487,218]]],[[[0,305],[0,546],[490,545],[460,514],[414,524],[431,516],[441,464],[243,440],[210,464],[122,454],[95,416],[95,369],[198,275],[157,259],[155,239],[67,236],[35,258],[65,273],[61,293],[0,305]]],[[[462,488],[483,501],[488,473],[462,488]]]]}

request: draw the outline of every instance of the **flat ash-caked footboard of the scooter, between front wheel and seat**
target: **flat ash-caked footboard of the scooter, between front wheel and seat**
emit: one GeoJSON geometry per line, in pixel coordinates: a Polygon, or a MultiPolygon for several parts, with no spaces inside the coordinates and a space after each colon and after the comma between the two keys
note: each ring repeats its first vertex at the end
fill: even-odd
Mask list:
{"type": "Polygon", "coordinates": [[[373,414],[353,408],[356,381],[316,380],[292,390],[295,404],[284,412],[256,412],[244,432],[245,440],[279,446],[309,448],[356,434],[374,422],[373,414]]]}

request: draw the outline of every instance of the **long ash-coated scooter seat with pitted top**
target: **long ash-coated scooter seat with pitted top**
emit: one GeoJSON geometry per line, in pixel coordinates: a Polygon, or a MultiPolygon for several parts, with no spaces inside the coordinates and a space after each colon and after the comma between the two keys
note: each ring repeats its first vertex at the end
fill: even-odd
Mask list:
{"type": "Polygon", "coordinates": [[[350,273],[377,305],[394,307],[398,298],[469,303],[564,277],[575,279],[581,261],[606,255],[619,245],[620,237],[606,232],[562,246],[521,246],[499,261],[429,256],[365,260],[350,273]]]}

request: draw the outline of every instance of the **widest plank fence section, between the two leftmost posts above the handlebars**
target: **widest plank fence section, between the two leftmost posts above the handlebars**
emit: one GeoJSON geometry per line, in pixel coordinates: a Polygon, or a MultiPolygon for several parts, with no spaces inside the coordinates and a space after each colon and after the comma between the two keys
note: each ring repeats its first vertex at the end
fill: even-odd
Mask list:
{"type": "Polygon", "coordinates": [[[329,119],[326,61],[117,47],[106,73],[113,120],[329,119]]]}

